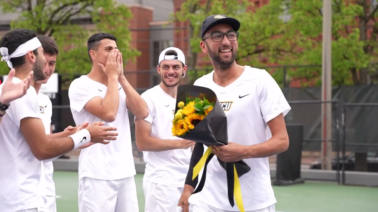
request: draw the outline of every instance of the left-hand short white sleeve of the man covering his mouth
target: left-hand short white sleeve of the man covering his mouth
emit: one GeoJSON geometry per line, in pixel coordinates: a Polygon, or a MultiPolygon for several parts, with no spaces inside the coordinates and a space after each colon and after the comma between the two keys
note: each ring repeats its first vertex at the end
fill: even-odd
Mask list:
{"type": "Polygon", "coordinates": [[[90,88],[85,82],[78,79],[72,81],[68,89],[68,98],[70,98],[71,110],[80,112],[89,100],[100,95],[97,89],[90,88]]]}

